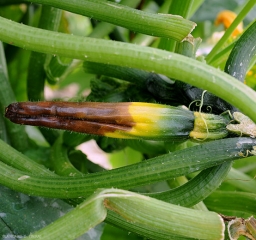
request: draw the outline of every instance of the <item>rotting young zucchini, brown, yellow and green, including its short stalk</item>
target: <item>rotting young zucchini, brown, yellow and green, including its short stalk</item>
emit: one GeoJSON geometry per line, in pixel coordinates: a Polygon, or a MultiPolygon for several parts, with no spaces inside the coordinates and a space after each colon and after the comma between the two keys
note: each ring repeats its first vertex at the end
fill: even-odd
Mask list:
{"type": "Polygon", "coordinates": [[[141,102],[20,102],[9,105],[5,116],[19,124],[126,139],[208,140],[228,133],[223,116],[141,102]]]}

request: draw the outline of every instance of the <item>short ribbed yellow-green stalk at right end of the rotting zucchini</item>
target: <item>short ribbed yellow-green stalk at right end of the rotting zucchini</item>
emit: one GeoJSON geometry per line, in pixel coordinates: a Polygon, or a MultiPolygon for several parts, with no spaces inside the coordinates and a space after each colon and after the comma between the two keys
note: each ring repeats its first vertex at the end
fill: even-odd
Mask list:
{"type": "Polygon", "coordinates": [[[194,112],[194,129],[189,136],[197,140],[214,140],[228,135],[227,119],[223,116],[194,112]]]}

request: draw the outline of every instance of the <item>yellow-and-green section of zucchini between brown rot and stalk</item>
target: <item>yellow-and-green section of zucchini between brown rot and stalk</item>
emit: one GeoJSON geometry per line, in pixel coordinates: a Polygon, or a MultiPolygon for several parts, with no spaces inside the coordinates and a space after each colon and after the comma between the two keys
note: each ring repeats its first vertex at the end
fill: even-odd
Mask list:
{"type": "Polygon", "coordinates": [[[148,140],[187,139],[194,126],[193,112],[181,107],[133,102],[128,108],[134,125],[127,131],[120,128],[105,136],[148,140]]]}

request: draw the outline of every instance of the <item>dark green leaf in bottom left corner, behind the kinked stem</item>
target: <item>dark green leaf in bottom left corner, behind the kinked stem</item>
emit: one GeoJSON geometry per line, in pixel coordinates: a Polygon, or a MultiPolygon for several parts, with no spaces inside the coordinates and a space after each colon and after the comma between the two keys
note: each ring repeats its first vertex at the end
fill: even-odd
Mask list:
{"type": "MultiPolygon", "coordinates": [[[[3,186],[0,186],[0,189],[0,235],[2,237],[4,235],[25,237],[73,209],[60,199],[31,197],[3,186]]],[[[100,239],[102,230],[102,226],[98,226],[80,239],[91,240],[91,235],[95,237],[93,240],[100,239]]]]}

